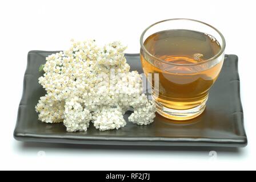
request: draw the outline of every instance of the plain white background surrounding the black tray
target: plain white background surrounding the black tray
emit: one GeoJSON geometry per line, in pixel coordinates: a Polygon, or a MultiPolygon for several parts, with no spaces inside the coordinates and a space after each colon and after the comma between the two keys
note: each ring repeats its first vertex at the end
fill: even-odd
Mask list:
{"type": "Polygon", "coordinates": [[[0,169],[256,169],[254,1],[1,1],[0,169]],[[13,130],[27,52],[62,50],[70,39],[121,40],[139,52],[139,36],[169,18],[202,20],[226,38],[226,53],[239,56],[241,97],[249,144],[245,148],[97,147],[22,143],[13,130]],[[217,152],[217,158],[209,156],[217,152]]]}

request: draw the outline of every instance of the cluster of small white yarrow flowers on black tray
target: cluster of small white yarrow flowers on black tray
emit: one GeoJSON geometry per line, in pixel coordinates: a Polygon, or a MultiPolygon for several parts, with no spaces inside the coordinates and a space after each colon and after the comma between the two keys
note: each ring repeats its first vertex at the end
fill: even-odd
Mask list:
{"type": "Polygon", "coordinates": [[[142,94],[142,77],[130,72],[120,42],[98,47],[95,40],[74,42],[64,52],[46,57],[39,84],[47,94],[35,110],[46,123],[63,122],[67,131],[86,131],[89,123],[101,130],[126,125],[128,120],[148,125],[155,117],[155,105],[142,94]]]}

